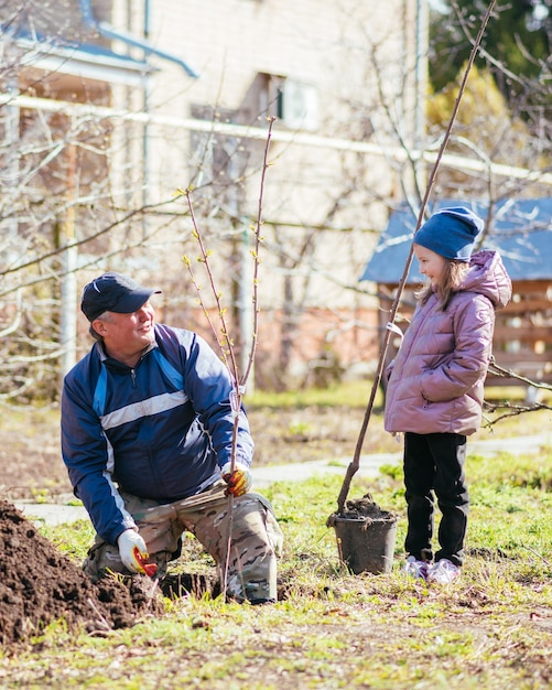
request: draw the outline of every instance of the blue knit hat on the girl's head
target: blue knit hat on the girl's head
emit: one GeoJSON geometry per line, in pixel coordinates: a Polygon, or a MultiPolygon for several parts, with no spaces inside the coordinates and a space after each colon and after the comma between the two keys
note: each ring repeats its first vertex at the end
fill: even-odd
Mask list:
{"type": "Polygon", "coordinates": [[[485,223],[469,208],[441,208],[414,235],[414,242],[445,259],[469,261],[485,223]]]}

